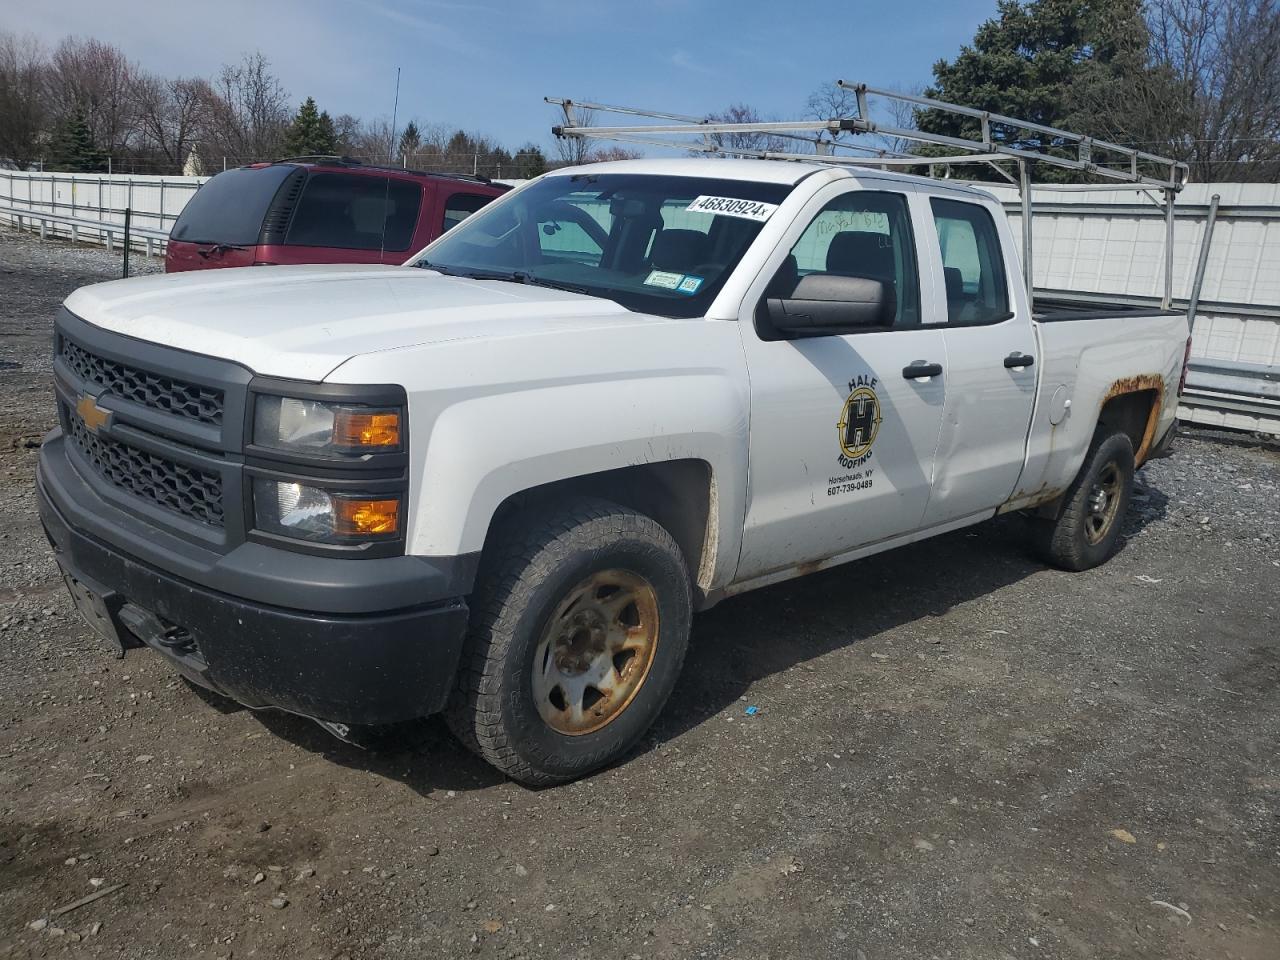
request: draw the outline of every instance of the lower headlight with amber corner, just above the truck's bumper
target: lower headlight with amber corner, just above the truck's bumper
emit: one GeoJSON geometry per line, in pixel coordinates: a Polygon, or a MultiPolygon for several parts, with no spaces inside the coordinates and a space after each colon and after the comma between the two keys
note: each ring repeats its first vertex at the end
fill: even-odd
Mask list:
{"type": "Polygon", "coordinates": [[[401,532],[401,498],[330,493],[308,484],[253,480],[255,526],[315,543],[393,539],[401,532]]]}

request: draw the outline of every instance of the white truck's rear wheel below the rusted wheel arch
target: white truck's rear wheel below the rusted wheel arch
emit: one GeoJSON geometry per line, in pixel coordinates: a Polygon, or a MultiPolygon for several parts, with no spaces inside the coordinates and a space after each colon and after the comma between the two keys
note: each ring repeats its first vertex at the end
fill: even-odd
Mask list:
{"type": "Polygon", "coordinates": [[[1125,434],[1098,431],[1084,465],[1064,495],[1056,520],[1036,521],[1037,550],[1062,570],[1080,571],[1105,563],[1120,543],[1120,530],[1133,494],[1133,443],[1125,434]],[[1098,492],[1115,484],[1100,500],[1098,492]],[[1103,506],[1100,507],[1100,503],[1103,506]]]}

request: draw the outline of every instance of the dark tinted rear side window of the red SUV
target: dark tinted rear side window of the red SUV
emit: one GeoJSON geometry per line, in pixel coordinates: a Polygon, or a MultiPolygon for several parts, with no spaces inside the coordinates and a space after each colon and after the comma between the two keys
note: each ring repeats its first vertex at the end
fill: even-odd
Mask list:
{"type": "Polygon", "coordinates": [[[417,183],[315,173],[302,191],[284,242],[293,247],[408,250],[421,206],[417,183]]]}

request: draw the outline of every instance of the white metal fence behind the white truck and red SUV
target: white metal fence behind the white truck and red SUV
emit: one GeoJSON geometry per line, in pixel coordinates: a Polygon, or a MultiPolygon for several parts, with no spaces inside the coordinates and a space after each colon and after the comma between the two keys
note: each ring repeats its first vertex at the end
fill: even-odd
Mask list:
{"type": "MultiPolygon", "coordinates": [[[[136,228],[168,233],[205,179],[0,170],[0,223],[14,224],[15,210],[59,215],[81,225],[49,221],[54,236],[118,243],[129,207],[136,228]]],[[[991,189],[1020,230],[1016,191],[991,189]]],[[[1280,434],[1280,184],[1193,183],[1183,191],[1174,296],[1185,305],[1215,195],[1220,204],[1192,346],[1194,389],[1181,415],[1280,434]]],[[[27,216],[24,225],[36,229],[37,221],[27,216]]],[[[1143,193],[1037,191],[1032,239],[1037,288],[1135,303],[1158,302],[1164,292],[1164,212],[1143,193]]],[[[151,243],[136,241],[138,248],[151,243]]]]}

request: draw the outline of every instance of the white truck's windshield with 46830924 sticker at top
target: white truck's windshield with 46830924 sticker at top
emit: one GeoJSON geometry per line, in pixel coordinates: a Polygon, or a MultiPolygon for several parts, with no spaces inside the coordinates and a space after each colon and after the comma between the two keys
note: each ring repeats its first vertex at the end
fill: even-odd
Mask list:
{"type": "Polygon", "coordinates": [[[705,177],[548,177],[454,227],[416,265],[701,316],[790,192],[705,177]]]}

